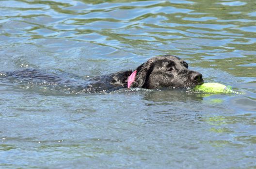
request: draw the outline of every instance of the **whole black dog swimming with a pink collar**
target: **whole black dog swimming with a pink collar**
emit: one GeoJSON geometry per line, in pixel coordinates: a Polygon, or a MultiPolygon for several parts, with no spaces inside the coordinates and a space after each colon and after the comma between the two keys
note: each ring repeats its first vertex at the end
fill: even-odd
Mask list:
{"type": "Polygon", "coordinates": [[[150,58],[135,71],[120,71],[88,80],[56,76],[30,69],[6,72],[4,77],[11,78],[12,81],[15,79],[19,84],[51,86],[56,90],[66,89],[72,93],[111,92],[125,87],[183,88],[204,83],[202,74],[189,70],[185,61],[171,55],[150,58]]]}

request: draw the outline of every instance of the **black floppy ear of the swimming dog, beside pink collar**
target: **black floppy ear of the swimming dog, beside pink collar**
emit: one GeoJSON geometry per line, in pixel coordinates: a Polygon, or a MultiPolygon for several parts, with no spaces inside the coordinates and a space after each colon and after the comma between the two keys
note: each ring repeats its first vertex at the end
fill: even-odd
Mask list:
{"type": "Polygon", "coordinates": [[[151,74],[153,70],[153,66],[154,66],[153,64],[154,64],[153,59],[150,59],[136,69],[137,74],[135,77],[135,81],[131,84],[131,87],[145,88],[148,76],[151,74]]]}

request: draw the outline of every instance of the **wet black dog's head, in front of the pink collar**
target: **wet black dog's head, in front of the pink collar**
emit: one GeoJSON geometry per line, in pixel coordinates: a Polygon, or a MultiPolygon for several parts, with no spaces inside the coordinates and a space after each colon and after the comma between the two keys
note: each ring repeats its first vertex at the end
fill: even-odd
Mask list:
{"type": "Polygon", "coordinates": [[[202,74],[189,70],[188,63],[171,55],[153,57],[136,70],[136,78],[131,87],[194,87],[204,83],[202,74]]]}

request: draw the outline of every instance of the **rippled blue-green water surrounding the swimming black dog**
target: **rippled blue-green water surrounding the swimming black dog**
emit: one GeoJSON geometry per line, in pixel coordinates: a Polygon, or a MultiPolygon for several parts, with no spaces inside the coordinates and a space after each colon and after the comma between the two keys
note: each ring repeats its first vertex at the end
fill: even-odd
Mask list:
{"type": "Polygon", "coordinates": [[[255,168],[255,0],[1,0],[0,70],[81,78],[152,56],[244,95],[0,83],[0,168],[255,168]]]}

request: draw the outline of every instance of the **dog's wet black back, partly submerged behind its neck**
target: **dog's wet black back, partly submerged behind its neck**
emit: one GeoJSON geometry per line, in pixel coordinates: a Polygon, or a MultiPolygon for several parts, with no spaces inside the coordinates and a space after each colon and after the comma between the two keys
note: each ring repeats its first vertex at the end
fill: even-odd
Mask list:
{"type": "Polygon", "coordinates": [[[25,69],[0,73],[0,81],[15,84],[32,84],[51,90],[70,93],[103,93],[120,88],[111,84],[112,75],[83,78],[68,73],[48,73],[42,70],[25,69]]]}

